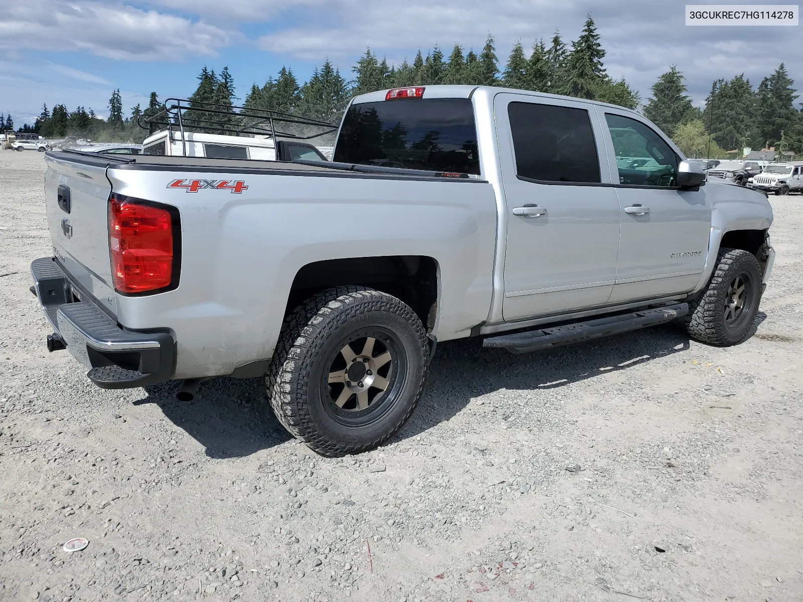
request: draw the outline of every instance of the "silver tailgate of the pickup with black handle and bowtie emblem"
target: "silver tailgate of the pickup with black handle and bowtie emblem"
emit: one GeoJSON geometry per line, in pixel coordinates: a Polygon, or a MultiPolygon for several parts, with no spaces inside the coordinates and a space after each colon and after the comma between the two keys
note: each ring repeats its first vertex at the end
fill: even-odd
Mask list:
{"type": "Polygon", "coordinates": [[[55,257],[73,279],[113,310],[108,254],[112,186],[106,167],[104,161],[73,161],[63,153],[47,153],[45,205],[55,257]]]}

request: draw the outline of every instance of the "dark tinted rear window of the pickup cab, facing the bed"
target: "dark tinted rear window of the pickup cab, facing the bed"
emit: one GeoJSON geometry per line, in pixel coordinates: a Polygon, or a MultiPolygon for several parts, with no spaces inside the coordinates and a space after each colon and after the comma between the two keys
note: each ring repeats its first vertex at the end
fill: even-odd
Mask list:
{"type": "Polygon", "coordinates": [[[471,100],[353,104],[344,117],[332,161],[479,174],[471,100]]]}

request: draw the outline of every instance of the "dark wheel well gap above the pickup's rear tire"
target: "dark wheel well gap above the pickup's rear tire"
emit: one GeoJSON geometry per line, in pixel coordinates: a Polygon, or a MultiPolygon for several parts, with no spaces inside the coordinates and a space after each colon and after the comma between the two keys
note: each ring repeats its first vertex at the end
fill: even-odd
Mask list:
{"type": "Polygon", "coordinates": [[[426,255],[324,259],[308,263],[296,272],[284,315],[319,291],[355,284],[401,299],[418,315],[426,331],[433,332],[438,311],[439,278],[438,262],[426,255]]]}

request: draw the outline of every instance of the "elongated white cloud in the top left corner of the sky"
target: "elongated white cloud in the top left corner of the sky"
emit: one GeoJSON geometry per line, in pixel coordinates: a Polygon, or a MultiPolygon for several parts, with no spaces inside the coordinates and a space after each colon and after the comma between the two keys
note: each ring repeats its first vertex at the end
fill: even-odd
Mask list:
{"type": "Polygon", "coordinates": [[[118,2],[0,2],[0,49],[85,51],[132,61],[177,60],[186,55],[217,55],[236,36],[204,21],[118,2]]]}

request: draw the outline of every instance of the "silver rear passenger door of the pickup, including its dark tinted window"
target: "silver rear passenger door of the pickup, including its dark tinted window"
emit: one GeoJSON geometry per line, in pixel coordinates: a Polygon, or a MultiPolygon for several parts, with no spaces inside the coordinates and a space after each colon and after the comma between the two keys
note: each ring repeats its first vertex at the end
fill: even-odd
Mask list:
{"type": "Polygon", "coordinates": [[[605,305],[613,290],[619,202],[592,105],[495,98],[506,203],[505,321],[605,305]]]}

